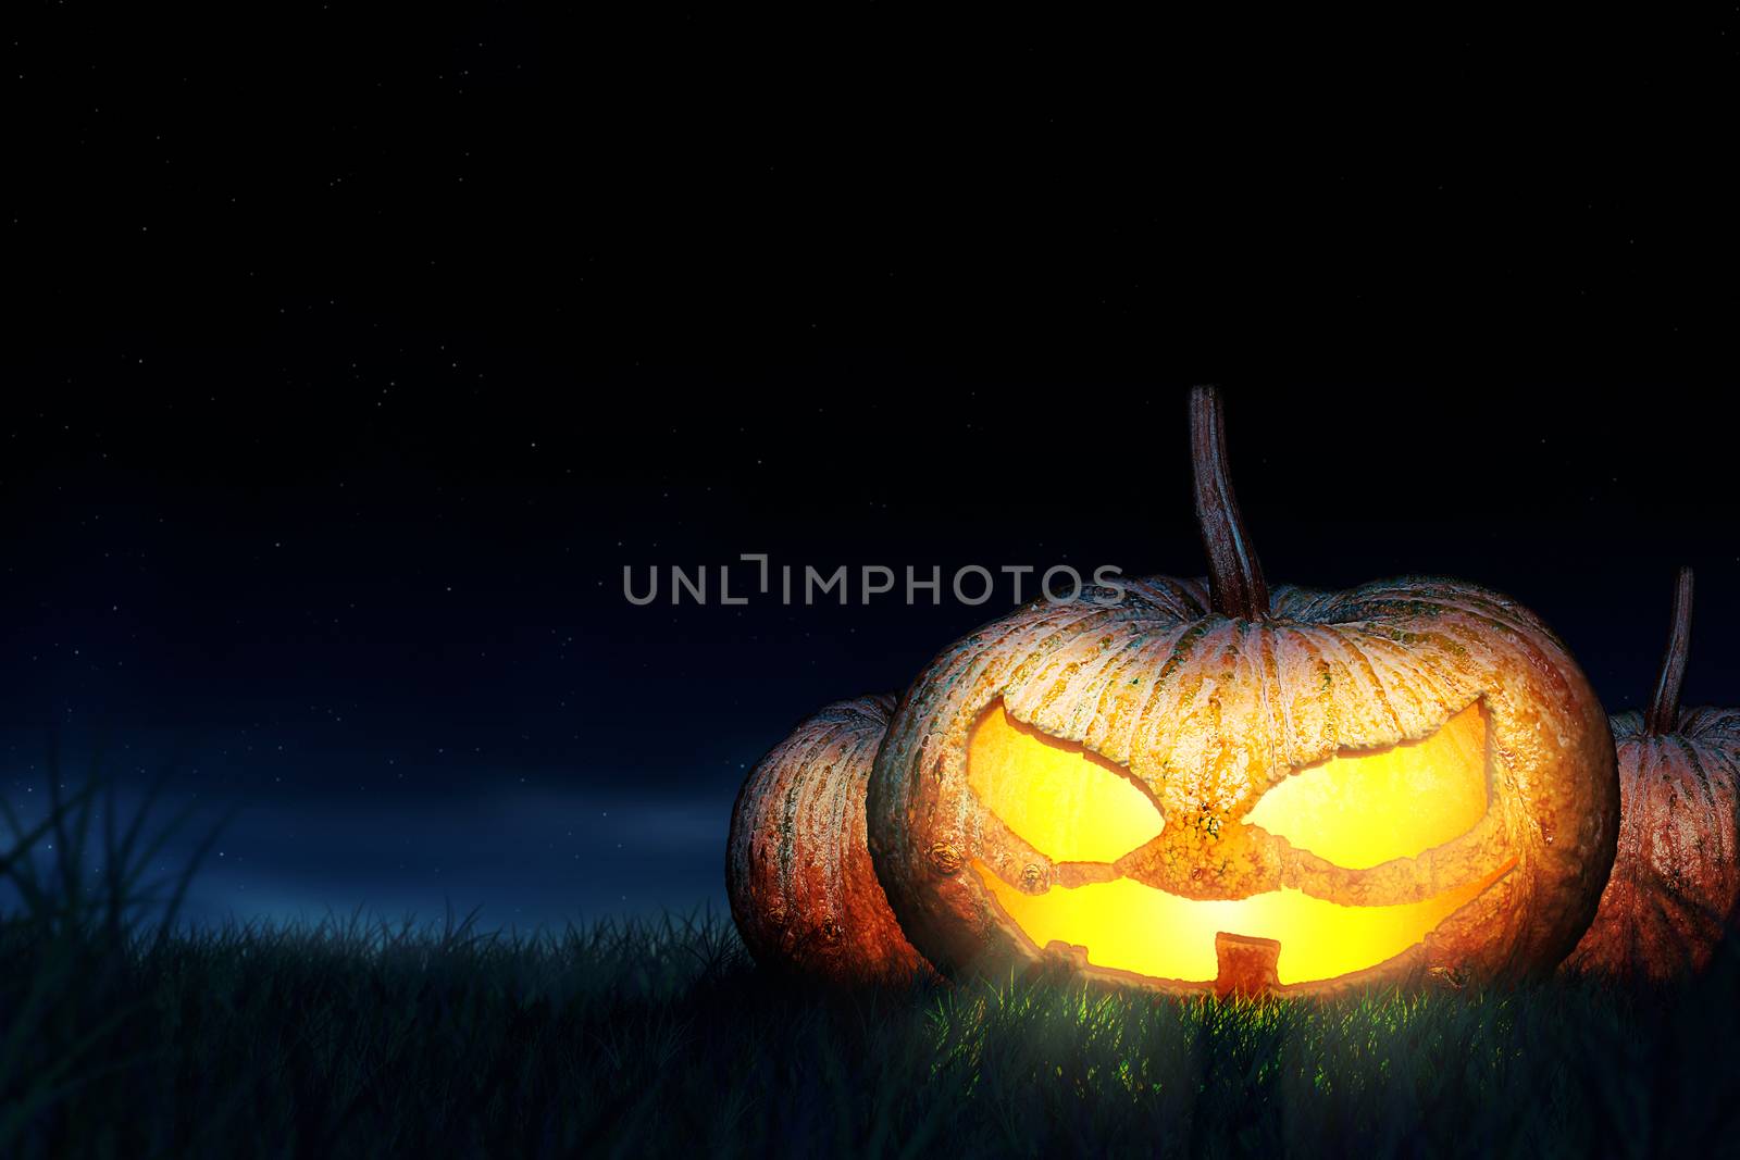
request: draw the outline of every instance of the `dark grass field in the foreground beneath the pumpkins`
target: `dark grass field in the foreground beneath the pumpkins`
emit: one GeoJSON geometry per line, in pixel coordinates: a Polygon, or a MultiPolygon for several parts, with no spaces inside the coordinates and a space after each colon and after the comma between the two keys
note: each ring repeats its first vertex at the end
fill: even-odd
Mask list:
{"type": "Polygon", "coordinates": [[[146,882],[150,809],[117,831],[97,802],[57,802],[33,830],[7,816],[3,1157],[1740,1148],[1731,944],[1670,991],[826,991],[757,969],[712,915],[536,936],[364,915],[177,930],[191,868],[146,882]]]}

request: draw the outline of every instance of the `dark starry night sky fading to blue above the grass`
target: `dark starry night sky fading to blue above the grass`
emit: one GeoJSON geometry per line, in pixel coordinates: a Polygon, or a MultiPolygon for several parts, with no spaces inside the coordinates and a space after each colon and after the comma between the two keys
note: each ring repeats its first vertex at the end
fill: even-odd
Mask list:
{"type": "Polygon", "coordinates": [[[238,805],[200,917],[719,904],[746,767],[1009,591],[623,567],[1197,574],[1204,376],[1272,579],[1488,583],[1618,708],[1688,562],[1688,699],[1740,701],[1724,30],[1446,28],[1296,101],[1194,31],[1079,87],[872,14],[158,19],[14,50],[0,793],[101,736],[238,805]]]}

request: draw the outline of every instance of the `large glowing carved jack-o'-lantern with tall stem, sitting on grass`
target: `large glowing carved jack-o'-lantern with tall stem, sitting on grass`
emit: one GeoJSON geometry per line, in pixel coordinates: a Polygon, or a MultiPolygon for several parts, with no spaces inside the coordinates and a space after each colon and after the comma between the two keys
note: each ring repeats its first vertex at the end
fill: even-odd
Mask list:
{"type": "Polygon", "coordinates": [[[1563,643],[1449,579],[1263,581],[1192,395],[1202,581],[1034,602],[945,649],[870,779],[938,967],[1174,991],[1550,970],[1613,863],[1608,722],[1563,643]]]}

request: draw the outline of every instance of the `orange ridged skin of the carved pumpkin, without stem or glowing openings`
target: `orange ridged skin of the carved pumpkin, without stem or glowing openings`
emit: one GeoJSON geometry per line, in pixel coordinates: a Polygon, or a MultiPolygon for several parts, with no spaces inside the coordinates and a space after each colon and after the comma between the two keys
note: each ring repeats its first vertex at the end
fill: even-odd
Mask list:
{"type": "Polygon", "coordinates": [[[1053,863],[976,802],[967,737],[999,699],[1016,722],[1079,743],[1147,786],[1166,828],[1141,866],[1119,859],[1121,877],[1199,899],[1288,885],[1378,906],[1496,875],[1394,958],[1270,993],[1425,972],[1519,979],[1550,972],[1589,925],[1618,831],[1613,741],[1576,663],[1531,612],[1427,577],[1343,593],[1275,588],[1267,619],[1211,610],[1208,581],[1150,577],[1107,605],[1094,595],[1112,597],[1035,602],[955,642],[889,725],[870,781],[870,850],[901,929],[938,969],[1063,962],[1117,983],[1215,990],[1089,965],[1093,948],[1039,948],[969,870],[978,859],[1028,894],[1105,880],[1103,870],[1053,863]],[[1465,837],[1345,870],[1241,823],[1289,772],[1338,750],[1423,739],[1476,701],[1489,722],[1489,797],[1465,837]]]}

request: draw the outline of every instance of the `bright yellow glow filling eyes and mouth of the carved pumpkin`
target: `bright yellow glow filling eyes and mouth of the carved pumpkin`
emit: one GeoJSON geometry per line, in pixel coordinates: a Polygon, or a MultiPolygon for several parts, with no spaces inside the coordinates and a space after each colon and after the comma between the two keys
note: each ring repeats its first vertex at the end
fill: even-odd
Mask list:
{"type": "MultiPolygon", "coordinates": [[[[1053,861],[1112,863],[1162,828],[1154,802],[1117,765],[1011,722],[1002,706],[973,730],[967,784],[1053,861]]],[[[1340,753],[1289,776],[1244,821],[1362,870],[1416,857],[1467,833],[1484,812],[1486,720],[1476,704],[1422,741],[1340,753]]],[[[1088,948],[1096,967],[1211,981],[1216,932],[1279,939],[1284,984],[1335,979],[1399,955],[1509,870],[1418,903],[1343,906],[1291,887],[1199,901],[1131,878],[1027,894],[978,859],[973,868],[1035,946],[1061,941],[1088,948]]]]}

